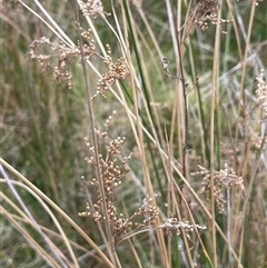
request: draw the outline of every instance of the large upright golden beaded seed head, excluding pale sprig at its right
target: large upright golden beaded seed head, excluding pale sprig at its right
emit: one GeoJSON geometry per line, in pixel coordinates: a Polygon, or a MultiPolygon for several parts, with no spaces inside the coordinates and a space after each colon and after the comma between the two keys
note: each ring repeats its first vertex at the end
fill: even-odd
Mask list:
{"type": "MultiPolygon", "coordinates": [[[[112,116],[116,112],[112,113],[112,116]]],[[[106,121],[106,129],[109,127],[112,116],[106,121]]],[[[127,166],[128,157],[122,157],[120,163],[118,162],[121,156],[120,146],[125,142],[125,137],[118,137],[113,140],[108,139],[108,133],[106,131],[96,130],[96,133],[106,145],[106,156],[96,156],[95,147],[92,147],[88,139],[86,138],[86,143],[89,148],[89,157],[86,158],[87,162],[97,167],[96,157],[98,157],[101,180],[103,185],[103,196],[101,195],[100,183],[93,178],[90,182],[91,186],[97,188],[97,200],[95,204],[90,205],[87,202],[86,211],[80,212],[79,216],[88,217],[91,216],[95,221],[106,222],[110,226],[111,235],[115,245],[118,245],[121,240],[122,235],[129,227],[135,227],[138,229],[144,226],[154,225],[156,218],[158,217],[157,208],[152,205],[154,198],[158,197],[156,193],[152,198],[144,199],[142,205],[130,216],[126,217],[123,214],[118,214],[117,207],[115,205],[115,190],[121,185],[122,179],[129,172],[129,167],[127,166]],[[105,199],[105,201],[103,201],[105,199]],[[107,206],[108,219],[105,218],[103,206],[107,206]],[[140,216],[144,219],[140,219],[140,216]]]]}

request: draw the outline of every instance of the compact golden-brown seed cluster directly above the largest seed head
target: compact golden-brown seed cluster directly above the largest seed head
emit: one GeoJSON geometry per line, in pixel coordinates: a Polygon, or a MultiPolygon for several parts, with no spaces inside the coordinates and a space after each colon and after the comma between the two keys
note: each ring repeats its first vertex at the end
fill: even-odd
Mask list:
{"type": "Polygon", "coordinates": [[[130,76],[129,69],[123,58],[119,58],[117,62],[111,59],[111,50],[107,44],[107,57],[103,61],[109,68],[109,71],[103,73],[97,82],[97,92],[92,96],[92,99],[98,95],[106,97],[105,92],[112,86],[118,79],[126,79],[130,76]]]}

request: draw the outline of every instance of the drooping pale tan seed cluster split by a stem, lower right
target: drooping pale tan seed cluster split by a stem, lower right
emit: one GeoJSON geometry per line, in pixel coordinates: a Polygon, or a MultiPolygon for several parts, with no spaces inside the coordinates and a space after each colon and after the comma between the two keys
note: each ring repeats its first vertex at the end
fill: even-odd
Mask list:
{"type": "MultiPolygon", "coordinates": [[[[202,192],[209,193],[210,190],[210,170],[198,165],[198,171],[192,172],[192,176],[202,177],[202,192]]],[[[222,191],[222,186],[231,187],[234,185],[240,186],[241,190],[245,192],[244,180],[241,177],[238,177],[235,171],[228,168],[228,165],[225,165],[225,169],[220,171],[215,171],[214,173],[214,197],[218,206],[219,212],[225,210],[225,195],[222,191]]]]}

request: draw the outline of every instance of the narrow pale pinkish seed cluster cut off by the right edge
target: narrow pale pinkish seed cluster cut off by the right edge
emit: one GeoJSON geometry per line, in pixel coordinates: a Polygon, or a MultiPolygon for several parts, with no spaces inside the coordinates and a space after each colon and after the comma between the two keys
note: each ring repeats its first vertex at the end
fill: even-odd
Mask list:
{"type": "Polygon", "coordinates": [[[260,71],[258,78],[256,96],[258,99],[258,105],[261,109],[261,122],[267,122],[267,81],[264,78],[264,70],[260,71]]]}

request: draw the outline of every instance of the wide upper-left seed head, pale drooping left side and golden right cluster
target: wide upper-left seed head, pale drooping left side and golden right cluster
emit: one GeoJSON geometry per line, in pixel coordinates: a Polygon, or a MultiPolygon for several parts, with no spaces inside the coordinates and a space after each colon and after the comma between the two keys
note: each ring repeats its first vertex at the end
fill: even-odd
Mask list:
{"type": "Polygon", "coordinates": [[[105,92],[118,80],[126,79],[130,76],[128,66],[123,58],[119,58],[116,62],[112,61],[111,58],[111,49],[109,44],[107,44],[107,56],[106,58],[101,57],[95,46],[95,41],[92,39],[91,30],[83,30],[80,24],[79,27],[80,36],[82,38],[82,46],[80,41],[77,41],[77,47],[67,47],[66,43],[53,44],[49,41],[48,38],[41,38],[40,40],[34,40],[30,44],[30,50],[28,52],[28,57],[32,60],[38,60],[41,66],[42,71],[47,71],[48,69],[53,69],[53,81],[65,82],[68,88],[72,88],[72,73],[70,62],[72,58],[78,58],[79,62],[82,59],[89,60],[91,56],[97,56],[103,63],[108,67],[109,71],[101,75],[101,78],[97,81],[97,91],[92,98],[98,95],[106,97],[105,92]],[[53,54],[44,54],[43,51],[46,47],[49,46],[49,49],[53,51],[53,54]],[[57,63],[52,63],[52,59],[56,58],[57,63]],[[53,66],[53,67],[52,67],[53,66]]]}

